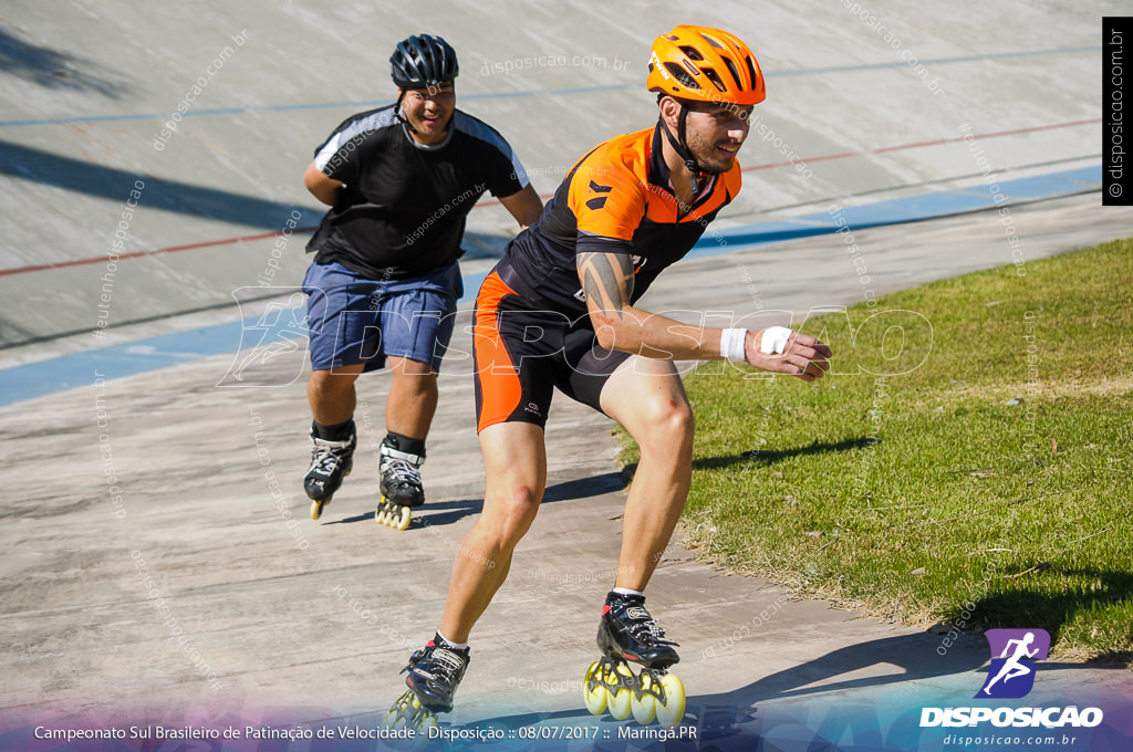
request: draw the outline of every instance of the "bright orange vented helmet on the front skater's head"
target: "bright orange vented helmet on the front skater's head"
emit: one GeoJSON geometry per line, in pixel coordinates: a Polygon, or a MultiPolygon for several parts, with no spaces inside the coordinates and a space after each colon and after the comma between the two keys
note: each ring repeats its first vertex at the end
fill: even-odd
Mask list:
{"type": "Polygon", "coordinates": [[[653,43],[646,86],[698,102],[759,104],[764,75],[739,37],[707,26],[678,26],[653,43]]]}

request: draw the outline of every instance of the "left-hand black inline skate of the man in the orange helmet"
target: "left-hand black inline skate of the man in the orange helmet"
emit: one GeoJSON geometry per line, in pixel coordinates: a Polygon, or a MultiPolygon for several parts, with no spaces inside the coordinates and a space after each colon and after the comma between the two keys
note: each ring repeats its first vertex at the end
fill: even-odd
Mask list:
{"type": "Polygon", "coordinates": [[[406,677],[409,689],[385,713],[383,725],[427,734],[428,727],[436,726],[436,713],[452,710],[452,698],[468,669],[468,648],[449,647],[440,634],[429,640],[401,669],[409,673],[406,677]]]}

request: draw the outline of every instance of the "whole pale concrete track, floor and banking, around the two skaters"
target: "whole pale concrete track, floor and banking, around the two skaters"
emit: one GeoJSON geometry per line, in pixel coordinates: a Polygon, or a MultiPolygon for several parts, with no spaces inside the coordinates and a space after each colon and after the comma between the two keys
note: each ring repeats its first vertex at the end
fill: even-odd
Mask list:
{"type": "MultiPolygon", "coordinates": [[[[316,522],[301,492],[301,347],[254,364],[258,387],[245,388],[227,378],[247,354],[233,354],[239,339],[207,357],[198,344],[295,304],[282,294],[231,305],[233,290],[273,268],[289,217],[317,222],[298,179],[310,149],[351,112],[391,101],[385,60],[410,33],[457,46],[458,105],[509,137],[543,194],[589,146],[651,122],[640,84],[654,35],[700,23],[756,49],[768,101],[741,153],[744,191],[719,221],[742,241],[707,243],[663,275],[642,301],[650,310],[761,306],[801,317],[1130,233],[1133,211],[1102,207],[1098,194],[1099,19],[1127,6],[705,6],[0,9],[0,292],[16,304],[0,313],[0,379],[7,371],[12,390],[0,407],[0,747],[52,749],[33,738],[37,724],[373,727],[400,693],[398,672],[440,621],[454,549],[482,503],[468,359],[448,359],[441,378],[424,468],[431,503],[395,532],[373,519],[386,376],[359,382],[356,469],[316,522]],[[194,95],[198,77],[206,85],[194,95]],[[162,137],[187,93],[178,130],[162,137]],[[1017,242],[1002,214],[972,211],[972,200],[994,208],[1000,183],[1015,191],[1000,195],[1017,242]],[[123,251],[135,256],[112,270],[100,309],[131,188],[142,198],[123,251]],[[854,231],[869,280],[842,238],[813,229],[835,206],[872,217],[854,231]],[[936,219],[906,221],[918,217],[936,219]],[[107,310],[111,326],[95,337],[107,310]],[[147,358],[159,350],[178,365],[155,368],[147,358]],[[114,353],[116,367],[128,361],[112,373],[129,375],[107,378],[100,352],[114,353]],[[25,392],[32,385],[18,379],[32,371],[18,369],[29,366],[48,381],[77,376],[25,392]],[[42,395],[25,399],[33,393],[42,395]]],[[[469,279],[491,268],[509,223],[489,200],[472,212],[469,279]]],[[[273,284],[301,279],[304,241],[283,243],[273,284]]],[[[467,351],[469,341],[462,332],[453,344],[467,351]]],[[[538,743],[559,749],[649,741],[581,703],[624,498],[611,429],[556,400],[544,509],[474,632],[471,668],[445,718],[512,734],[492,749],[536,744],[522,738],[535,726],[598,729],[538,743]]],[[[982,636],[942,655],[943,635],[714,571],[680,540],[649,604],[681,642],[688,734],[704,749],[944,749],[945,729],[918,727],[921,708],[972,704],[986,672],[982,636]]],[[[1122,749],[1133,743],[1131,699],[1128,672],[1062,664],[1041,666],[1025,702],[1101,704],[1106,726],[1089,738],[1122,749]]],[[[331,746],[374,743],[338,736],[331,746]]]]}

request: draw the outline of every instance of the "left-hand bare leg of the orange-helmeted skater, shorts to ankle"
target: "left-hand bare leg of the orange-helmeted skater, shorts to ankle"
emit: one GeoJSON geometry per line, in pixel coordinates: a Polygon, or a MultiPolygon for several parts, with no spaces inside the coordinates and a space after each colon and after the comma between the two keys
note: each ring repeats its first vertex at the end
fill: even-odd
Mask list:
{"type": "Polygon", "coordinates": [[[511,554],[531,527],[547,482],[543,429],[496,424],[480,431],[487,488],[484,511],[465,536],[449,581],[441,632],[466,642],[472,625],[508,578],[511,554]]]}

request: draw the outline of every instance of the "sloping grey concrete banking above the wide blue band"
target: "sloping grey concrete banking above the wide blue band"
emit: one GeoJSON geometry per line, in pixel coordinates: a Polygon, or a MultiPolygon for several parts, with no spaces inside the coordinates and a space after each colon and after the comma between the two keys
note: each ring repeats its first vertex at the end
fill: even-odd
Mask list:
{"type": "MultiPolygon", "coordinates": [[[[642,82],[657,33],[676,23],[736,32],[768,75],[768,100],[725,228],[834,199],[982,185],[988,170],[1021,178],[1100,161],[1099,17],[1117,3],[685,7],[253,0],[142,14],[113,0],[9,2],[0,345],[298,283],[301,229],[321,215],[299,176],[340,120],[392,100],[389,52],[411,33],[455,45],[459,106],[503,131],[550,194],[585,149],[653,121],[642,82]]],[[[489,265],[511,227],[483,200],[466,267],[489,265]]]]}

